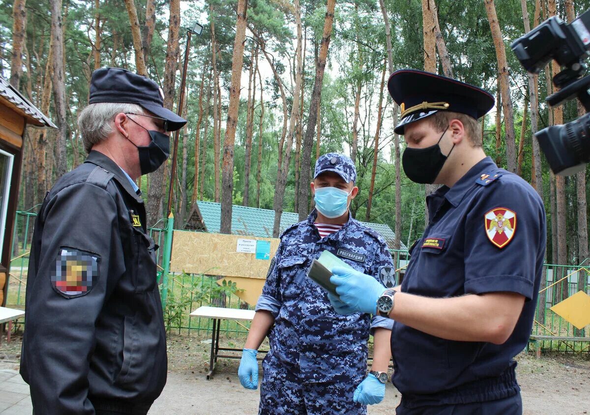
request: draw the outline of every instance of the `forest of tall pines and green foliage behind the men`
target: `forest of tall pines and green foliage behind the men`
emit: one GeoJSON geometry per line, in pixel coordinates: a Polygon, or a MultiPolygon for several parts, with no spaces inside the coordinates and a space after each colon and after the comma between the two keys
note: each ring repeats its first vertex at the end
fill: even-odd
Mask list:
{"type": "MultiPolygon", "coordinates": [[[[94,69],[122,67],[158,81],[176,111],[188,48],[172,210],[185,224],[196,200],[306,217],[310,171],[330,151],[358,171],[354,217],[385,223],[407,246],[428,218],[425,194],[400,169],[398,108],[384,85],[412,67],[496,96],[481,122],[484,150],[542,195],[547,261],[588,260],[588,175],[556,177],[533,133],[576,119],[576,102],[550,108],[557,64],[527,74],[510,43],[552,15],[572,21],[590,0],[1,0],[0,74],[50,116],[28,129],[19,209],[34,211],[55,179],[84,161],[77,113],[94,69]]],[[[171,138],[173,140],[173,137],[171,138]]],[[[152,226],[167,215],[172,158],[140,178],[152,226]]],[[[483,218],[482,218],[483,223],[483,218]]],[[[398,242],[396,242],[398,243],[398,242]]],[[[399,246],[399,245],[398,245],[399,246]]]]}

